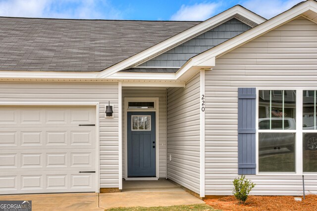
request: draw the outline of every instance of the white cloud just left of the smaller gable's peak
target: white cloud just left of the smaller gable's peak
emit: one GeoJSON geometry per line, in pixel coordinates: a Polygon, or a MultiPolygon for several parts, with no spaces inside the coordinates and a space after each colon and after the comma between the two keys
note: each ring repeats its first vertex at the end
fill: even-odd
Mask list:
{"type": "Polygon", "coordinates": [[[194,5],[182,5],[180,9],[171,16],[170,20],[197,21],[206,20],[215,14],[218,3],[196,3],[194,5]]]}

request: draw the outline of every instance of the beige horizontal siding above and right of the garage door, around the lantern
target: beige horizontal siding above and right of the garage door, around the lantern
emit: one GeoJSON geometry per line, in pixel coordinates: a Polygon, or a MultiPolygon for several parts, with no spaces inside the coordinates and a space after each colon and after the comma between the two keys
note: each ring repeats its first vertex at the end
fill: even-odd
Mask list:
{"type": "MultiPolygon", "coordinates": [[[[118,84],[117,83],[0,83],[1,102],[92,103],[99,102],[100,187],[119,187],[118,84]],[[105,118],[105,105],[114,105],[114,118],[105,118]]],[[[97,140],[96,140],[97,141],[97,140]]]]}

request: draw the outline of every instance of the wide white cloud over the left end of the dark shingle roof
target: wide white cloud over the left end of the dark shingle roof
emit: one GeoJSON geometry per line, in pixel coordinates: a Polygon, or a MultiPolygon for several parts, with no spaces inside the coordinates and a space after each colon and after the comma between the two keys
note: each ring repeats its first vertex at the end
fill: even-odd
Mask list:
{"type": "Polygon", "coordinates": [[[0,0],[0,16],[122,19],[107,0],[0,0]]]}

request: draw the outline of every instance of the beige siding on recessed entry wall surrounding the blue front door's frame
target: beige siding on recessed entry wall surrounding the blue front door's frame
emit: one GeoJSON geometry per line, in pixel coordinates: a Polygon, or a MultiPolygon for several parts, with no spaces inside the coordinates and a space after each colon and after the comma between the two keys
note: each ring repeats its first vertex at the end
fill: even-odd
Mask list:
{"type": "Polygon", "coordinates": [[[166,178],[166,89],[122,89],[122,177],[124,178],[124,98],[159,97],[159,178],[166,178]]]}

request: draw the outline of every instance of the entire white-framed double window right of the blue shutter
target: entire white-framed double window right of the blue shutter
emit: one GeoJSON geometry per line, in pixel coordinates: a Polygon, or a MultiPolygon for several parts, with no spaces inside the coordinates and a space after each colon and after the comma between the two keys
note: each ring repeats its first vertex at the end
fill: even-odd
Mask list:
{"type": "Polygon", "coordinates": [[[258,94],[259,173],[317,173],[317,90],[258,94]]]}

